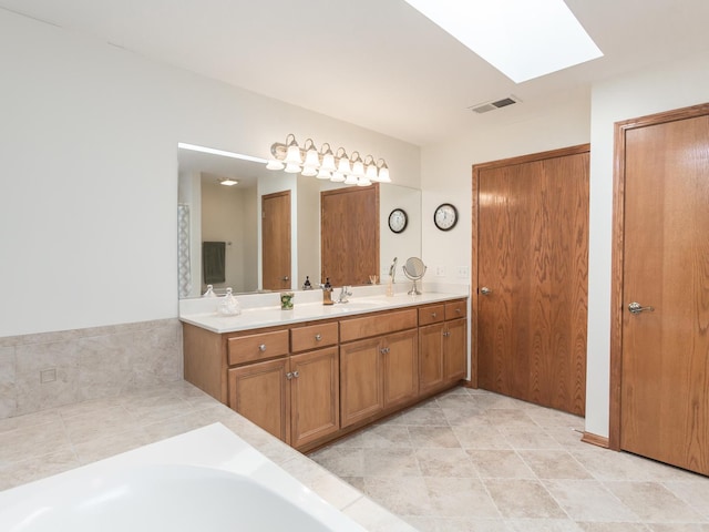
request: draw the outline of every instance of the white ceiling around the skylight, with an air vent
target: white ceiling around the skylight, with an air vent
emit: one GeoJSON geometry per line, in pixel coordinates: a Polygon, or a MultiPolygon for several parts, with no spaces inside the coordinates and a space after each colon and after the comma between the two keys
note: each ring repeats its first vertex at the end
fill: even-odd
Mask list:
{"type": "Polygon", "coordinates": [[[403,0],[0,0],[8,10],[418,145],[709,49],[708,0],[566,3],[605,57],[515,84],[403,0]],[[523,103],[484,115],[467,109],[508,94],[523,103]]]}

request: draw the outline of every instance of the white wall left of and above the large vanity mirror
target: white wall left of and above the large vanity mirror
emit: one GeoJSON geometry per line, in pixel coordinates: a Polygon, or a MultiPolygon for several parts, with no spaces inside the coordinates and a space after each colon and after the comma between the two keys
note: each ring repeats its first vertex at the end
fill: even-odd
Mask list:
{"type": "Polygon", "coordinates": [[[419,149],[0,11],[0,337],[177,316],[177,143],[419,149]]]}

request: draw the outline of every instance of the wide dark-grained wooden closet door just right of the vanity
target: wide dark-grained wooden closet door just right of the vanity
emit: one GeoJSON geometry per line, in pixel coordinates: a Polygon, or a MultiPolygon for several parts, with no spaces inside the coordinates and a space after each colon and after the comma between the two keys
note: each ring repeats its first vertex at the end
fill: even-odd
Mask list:
{"type": "Polygon", "coordinates": [[[475,165],[477,385],[585,412],[588,146],[475,165]]]}

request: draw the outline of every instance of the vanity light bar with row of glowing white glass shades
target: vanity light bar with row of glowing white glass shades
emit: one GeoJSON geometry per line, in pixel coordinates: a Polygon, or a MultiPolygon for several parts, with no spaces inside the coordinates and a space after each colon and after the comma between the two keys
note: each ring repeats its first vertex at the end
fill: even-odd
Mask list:
{"type": "Polygon", "coordinates": [[[286,136],[285,143],[271,144],[270,154],[271,158],[266,164],[268,170],[300,173],[346,185],[369,186],[374,182],[391,183],[389,166],[383,158],[376,160],[367,155],[362,160],[359,152],[354,151],[348,155],[343,147],[332,153],[327,142],[318,150],[312,139],[307,139],[300,147],[292,133],[286,136]]]}

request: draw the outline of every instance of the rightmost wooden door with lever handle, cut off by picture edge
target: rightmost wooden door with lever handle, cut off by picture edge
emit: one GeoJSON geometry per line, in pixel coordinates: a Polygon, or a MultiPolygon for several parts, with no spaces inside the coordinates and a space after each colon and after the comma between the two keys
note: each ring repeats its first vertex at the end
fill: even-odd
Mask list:
{"type": "Polygon", "coordinates": [[[620,448],[709,474],[709,116],[628,129],[624,158],[620,448]]]}

